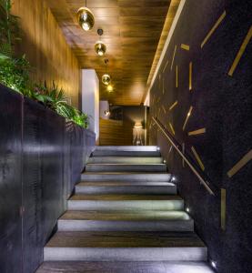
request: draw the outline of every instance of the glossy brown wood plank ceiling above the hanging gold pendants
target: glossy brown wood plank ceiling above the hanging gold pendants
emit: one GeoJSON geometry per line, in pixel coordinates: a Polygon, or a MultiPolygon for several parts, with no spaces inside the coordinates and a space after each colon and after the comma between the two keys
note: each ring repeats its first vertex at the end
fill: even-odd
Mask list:
{"type": "Polygon", "coordinates": [[[94,68],[100,80],[100,99],[113,105],[133,106],[142,102],[156,47],[166,21],[170,0],[87,0],[96,17],[94,28],[85,32],[76,22],[76,11],[85,0],[47,0],[82,68],[94,68]],[[106,56],[96,56],[96,30],[102,28],[106,56]],[[101,83],[106,72],[114,92],[101,83]]]}

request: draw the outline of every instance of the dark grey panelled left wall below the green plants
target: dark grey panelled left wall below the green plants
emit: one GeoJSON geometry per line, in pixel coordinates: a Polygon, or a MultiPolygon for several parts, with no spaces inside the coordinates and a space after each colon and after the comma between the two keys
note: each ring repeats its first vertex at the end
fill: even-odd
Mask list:
{"type": "Polygon", "coordinates": [[[35,272],[95,134],[4,86],[0,97],[0,272],[35,272]]]}

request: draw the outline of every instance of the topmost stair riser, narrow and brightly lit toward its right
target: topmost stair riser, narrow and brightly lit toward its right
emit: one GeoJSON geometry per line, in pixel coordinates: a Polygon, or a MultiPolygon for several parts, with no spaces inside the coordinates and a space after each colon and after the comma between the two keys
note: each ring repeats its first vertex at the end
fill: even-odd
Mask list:
{"type": "Polygon", "coordinates": [[[156,146],[96,146],[96,151],[134,151],[134,152],[154,152],[156,146]]]}

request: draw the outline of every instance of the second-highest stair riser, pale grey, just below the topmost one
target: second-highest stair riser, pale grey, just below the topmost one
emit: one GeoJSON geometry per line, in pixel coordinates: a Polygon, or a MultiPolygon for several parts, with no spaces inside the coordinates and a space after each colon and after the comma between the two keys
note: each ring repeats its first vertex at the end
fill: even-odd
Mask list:
{"type": "Polygon", "coordinates": [[[160,164],[162,157],[89,157],[87,163],[160,164]]]}

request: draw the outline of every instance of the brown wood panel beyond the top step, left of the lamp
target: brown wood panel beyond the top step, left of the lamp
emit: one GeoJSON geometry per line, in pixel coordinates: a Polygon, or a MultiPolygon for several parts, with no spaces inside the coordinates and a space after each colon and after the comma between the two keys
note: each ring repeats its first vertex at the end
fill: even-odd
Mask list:
{"type": "Polygon", "coordinates": [[[132,145],[132,126],[119,120],[100,118],[99,145],[132,145]]]}

